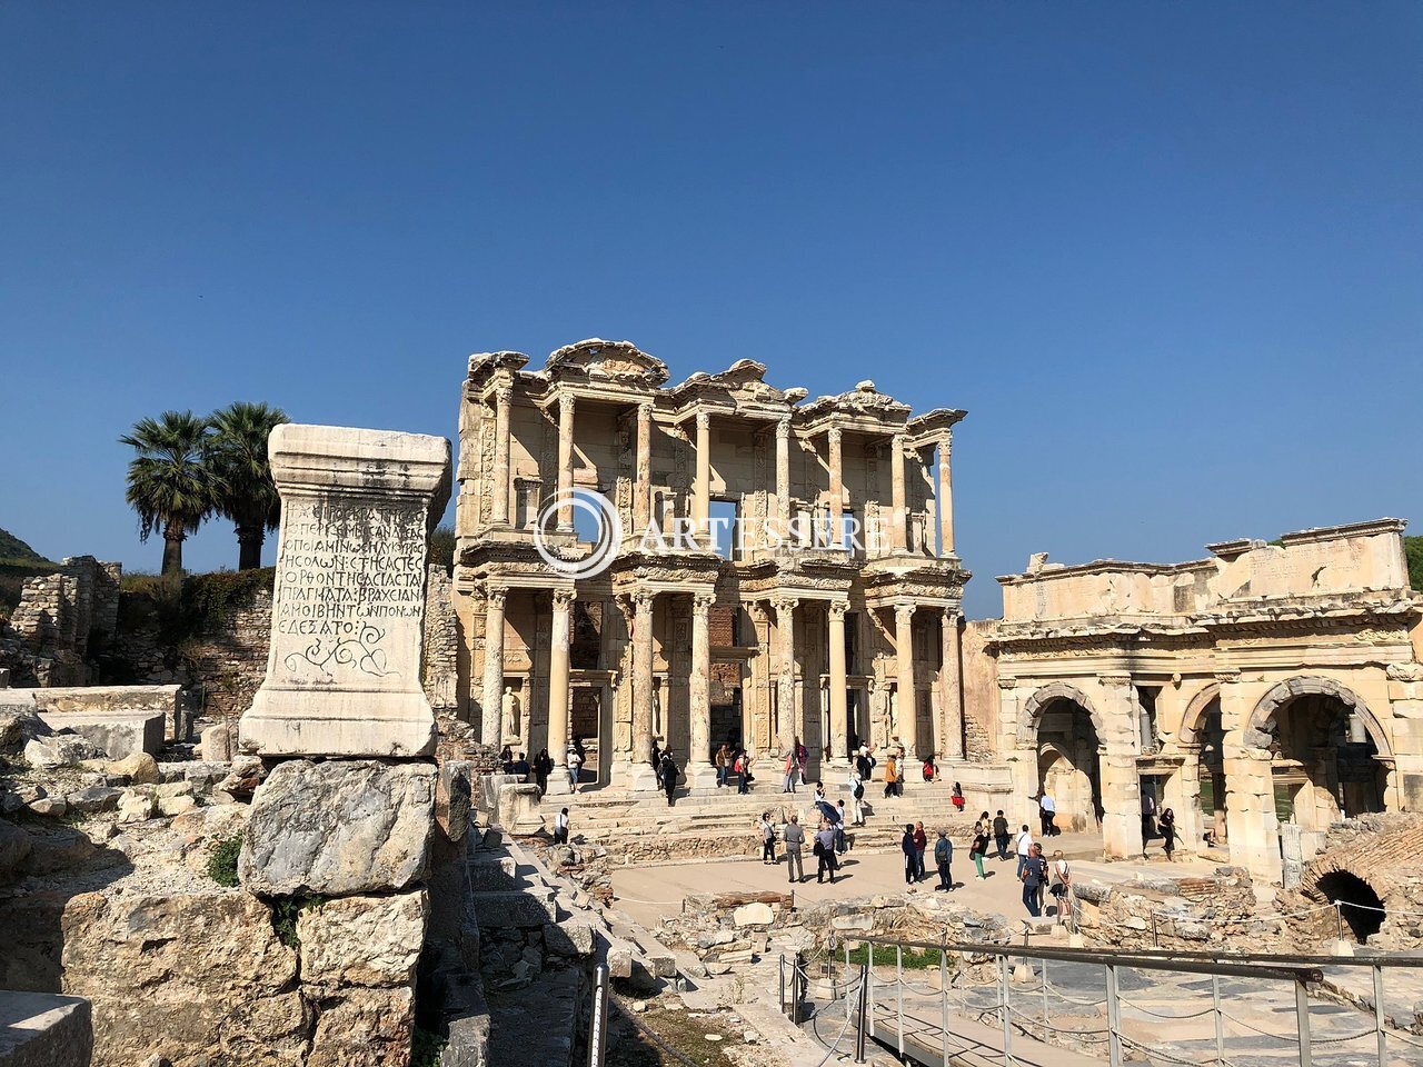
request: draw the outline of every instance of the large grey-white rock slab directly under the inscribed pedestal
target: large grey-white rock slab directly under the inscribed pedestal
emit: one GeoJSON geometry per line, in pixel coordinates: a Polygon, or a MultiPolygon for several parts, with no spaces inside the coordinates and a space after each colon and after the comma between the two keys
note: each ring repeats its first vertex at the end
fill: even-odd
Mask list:
{"type": "Polygon", "coordinates": [[[260,893],[406,889],[425,876],[434,767],[289,760],[252,801],[239,872],[260,893]]]}

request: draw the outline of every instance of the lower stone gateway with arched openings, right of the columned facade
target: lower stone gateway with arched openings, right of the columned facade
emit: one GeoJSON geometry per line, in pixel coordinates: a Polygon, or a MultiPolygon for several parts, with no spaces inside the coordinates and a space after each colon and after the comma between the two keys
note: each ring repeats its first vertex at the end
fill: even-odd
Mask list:
{"type": "Polygon", "coordinates": [[[1052,785],[1072,808],[1091,778],[1107,854],[1131,856],[1144,790],[1192,848],[1211,825],[1205,788],[1232,862],[1275,881],[1286,819],[1309,838],[1340,814],[1423,809],[1423,686],[1412,680],[1423,677],[1423,596],[1407,585],[1403,525],[1222,542],[1174,566],[1035,556],[1000,578],[1005,617],[970,671],[996,677],[996,745],[1015,790],[1052,785]]]}

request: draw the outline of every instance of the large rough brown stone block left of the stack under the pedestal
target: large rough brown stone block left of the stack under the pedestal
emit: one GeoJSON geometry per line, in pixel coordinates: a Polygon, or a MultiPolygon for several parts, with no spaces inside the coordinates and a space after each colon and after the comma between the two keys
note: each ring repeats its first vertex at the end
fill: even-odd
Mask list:
{"type": "Polygon", "coordinates": [[[238,891],[83,893],[64,909],[64,987],[94,1006],[95,1067],[129,1067],[154,1053],[175,1063],[252,1050],[232,1063],[299,1063],[292,1047],[300,997],[268,908],[238,891]],[[263,1051],[258,1051],[263,1050],[263,1051]]]}

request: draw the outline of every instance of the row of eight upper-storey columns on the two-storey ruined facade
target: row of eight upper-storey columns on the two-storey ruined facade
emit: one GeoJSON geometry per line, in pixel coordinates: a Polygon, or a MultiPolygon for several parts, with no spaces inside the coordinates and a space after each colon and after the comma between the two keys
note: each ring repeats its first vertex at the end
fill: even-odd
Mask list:
{"type": "MultiPolygon", "coordinates": [[[[495,526],[509,524],[509,424],[514,403],[514,387],[499,386],[494,391],[494,489],[491,522],[495,526]]],[[[571,492],[573,488],[573,414],[576,400],[572,394],[559,396],[558,401],[558,531],[573,532],[573,508],[571,492]]],[[[643,400],[636,407],[638,420],[638,455],[636,482],[633,488],[633,528],[640,535],[652,521],[652,401],[643,400]]],[[[697,538],[703,545],[710,546],[712,519],[712,415],[697,411],[696,423],[696,481],[692,494],[692,516],[697,538]]],[[[776,516],[780,532],[784,535],[790,528],[790,441],[791,420],[781,418],[776,424],[776,516]]],[[[830,464],[830,522],[831,536],[835,543],[842,541],[844,522],[844,475],[841,452],[841,430],[830,427],[827,430],[828,464],[830,464]]],[[[905,434],[895,434],[891,438],[891,548],[905,551],[908,548],[908,504],[905,497],[905,450],[908,438],[905,434]]],[[[939,471],[938,471],[938,514],[939,538],[942,553],[953,553],[953,501],[951,475],[952,438],[946,432],[939,440],[939,471]]]]}

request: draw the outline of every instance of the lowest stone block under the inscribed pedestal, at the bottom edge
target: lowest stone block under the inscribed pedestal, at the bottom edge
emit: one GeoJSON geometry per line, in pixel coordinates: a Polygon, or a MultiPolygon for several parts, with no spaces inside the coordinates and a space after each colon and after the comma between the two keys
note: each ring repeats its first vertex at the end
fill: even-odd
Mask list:
{"type": "Polygon", "coordinates": [[[306,1067],[407,1067],[416,1027],[410,989],[303,987],[316,1004],[306,1067]]]}

